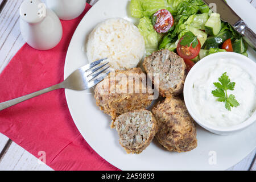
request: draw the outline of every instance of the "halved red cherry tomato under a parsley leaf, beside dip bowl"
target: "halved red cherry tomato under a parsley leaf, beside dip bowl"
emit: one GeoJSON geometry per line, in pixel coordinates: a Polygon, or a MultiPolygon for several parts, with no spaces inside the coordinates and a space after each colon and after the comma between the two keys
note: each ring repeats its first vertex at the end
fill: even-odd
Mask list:
{"type": "Polygon", "coordinates": [[[197,55],[199,55],[201,44],[198,39],[198,44],[195,48],[193,48],[192,46],[181,46],[180,42],[182,39],[183,38],[181,38],[179,43],[177,44],[177,53],[180,57],[182,57],[183,59],[194,59],[197,55]]]}

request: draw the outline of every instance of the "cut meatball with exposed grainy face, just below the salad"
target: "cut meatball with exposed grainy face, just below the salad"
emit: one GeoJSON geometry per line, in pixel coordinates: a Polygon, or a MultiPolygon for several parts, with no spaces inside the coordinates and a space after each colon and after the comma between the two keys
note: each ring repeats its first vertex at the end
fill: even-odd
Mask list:
{"type": "Polygon", "coordinates": [[[159,92],[161,96],[179,95],[184,86],[186,65],[184,60],[168,49],[152,53],[144,59],[143,67],[147,74],[159,75],[159,92]]]}

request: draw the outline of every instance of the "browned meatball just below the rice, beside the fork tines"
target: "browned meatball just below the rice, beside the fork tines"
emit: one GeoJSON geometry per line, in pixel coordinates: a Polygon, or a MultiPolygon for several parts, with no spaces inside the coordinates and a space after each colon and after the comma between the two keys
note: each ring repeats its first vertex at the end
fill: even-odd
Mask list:
{"type": "Polygon", "coordinates": [[[152,100],[144,79],[146,74],[141,68],[110,73],[94,90],[97,106],[112,119],[129,111],[145,109],[152,100]]]}

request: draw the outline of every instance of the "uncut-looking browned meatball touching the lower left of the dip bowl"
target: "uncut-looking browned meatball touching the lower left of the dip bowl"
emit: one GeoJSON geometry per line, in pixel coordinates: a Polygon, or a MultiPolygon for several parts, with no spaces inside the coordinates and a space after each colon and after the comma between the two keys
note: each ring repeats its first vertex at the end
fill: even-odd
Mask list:
{"type": "Polygon", "coordinates": [[[195,123],[183,100],[166,98],[152,113],[159,127],[156,139],[168,151],[187,152],[197,147],[195,123]]]}

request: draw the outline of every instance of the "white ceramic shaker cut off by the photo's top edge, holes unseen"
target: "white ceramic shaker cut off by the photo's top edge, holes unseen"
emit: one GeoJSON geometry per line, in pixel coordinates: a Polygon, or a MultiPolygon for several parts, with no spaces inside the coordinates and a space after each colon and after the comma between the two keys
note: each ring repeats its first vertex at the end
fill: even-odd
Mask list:
{"type": "Polygon", "coordinates": [[[86,6],[85,0],[46,0],[47,7],[62,20],[77,18],[86,6]]]}

